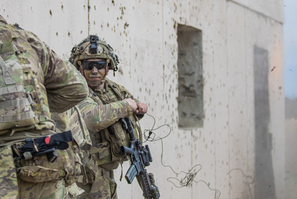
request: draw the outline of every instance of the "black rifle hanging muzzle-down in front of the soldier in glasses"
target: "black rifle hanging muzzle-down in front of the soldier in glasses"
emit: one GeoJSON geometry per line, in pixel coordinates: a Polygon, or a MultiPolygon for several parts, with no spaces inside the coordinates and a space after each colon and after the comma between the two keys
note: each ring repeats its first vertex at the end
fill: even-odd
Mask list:
{"type": "Polygon", "coordinates": [[[159,189],[155,185],[154,175],[152,173],[147,173],[145,169],[145,167],[149,166],[150,162],[153,161],[149,146],[141,146],[141,141],[135,139],[130,118],[123,118],[119,121],[130,136],[130,147],[121,146],[121,153],[128,155],[131,161],[131,166],[125,175],[128,184],[131,184],[136,176],[138,183],[143,190],[143,196],[146,199],[160,198],[159,189]]]}

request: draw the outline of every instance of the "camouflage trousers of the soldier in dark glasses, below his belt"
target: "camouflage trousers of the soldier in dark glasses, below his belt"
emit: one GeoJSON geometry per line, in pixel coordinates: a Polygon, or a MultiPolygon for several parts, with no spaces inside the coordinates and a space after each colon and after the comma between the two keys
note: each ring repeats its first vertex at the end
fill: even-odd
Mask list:
{"type": "MultiPolygon", "coordinates": [[[[105,170],[106,171],[106,170],[105,170]]],[[[108,172],[105,172],[108,173],[108,172]]],[[[116,194],[116,181],[112,176],[97,176],[96,182],[93,184],[77,183],[78,187],[85,190],[84,193],[79,195],[78,199],[117,199],[116,194]],[[111,178],[110,178],[111,177],[111,178]]]]}

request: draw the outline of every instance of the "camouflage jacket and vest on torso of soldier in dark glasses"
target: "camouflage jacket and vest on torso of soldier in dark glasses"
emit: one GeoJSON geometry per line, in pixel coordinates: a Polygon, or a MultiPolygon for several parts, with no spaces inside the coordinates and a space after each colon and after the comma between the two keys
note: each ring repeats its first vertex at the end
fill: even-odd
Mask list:
{"type": "MultiPolygon", "coordinates": [[[[129,146],[129,135],[122,128],[119,119],[130,117],[135,137],[138,138],[136,121],[143,117],[133,115],[130,105],[121,101],[125,98],[133,99],[127,89],[107,78],[105,80],[105,89],[89,87],[89,96],[78,105],[89,130],[91,152],[98,165],[114,162],[125,156],[121,154],[120,146],[129,146]]],[[[135,101],[139,102],[136,99],[135,101]]]]}

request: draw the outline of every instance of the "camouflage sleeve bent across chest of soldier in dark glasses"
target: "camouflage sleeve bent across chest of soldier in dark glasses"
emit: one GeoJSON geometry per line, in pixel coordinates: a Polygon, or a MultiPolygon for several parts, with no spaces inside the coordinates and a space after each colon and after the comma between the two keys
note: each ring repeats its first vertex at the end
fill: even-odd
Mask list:
{"type": "Polygon", "coordinates": [[[98,105],[92,98],[87,97],[78,105],[88,130],[100,131],[109,127],[121,118],[132,115],[131,106],[125,101],[98,105]]]}

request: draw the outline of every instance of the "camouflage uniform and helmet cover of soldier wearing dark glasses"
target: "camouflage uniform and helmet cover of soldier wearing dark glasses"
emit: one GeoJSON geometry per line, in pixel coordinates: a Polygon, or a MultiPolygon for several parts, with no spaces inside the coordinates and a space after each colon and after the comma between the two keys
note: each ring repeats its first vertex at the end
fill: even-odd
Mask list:
{"type": "MultiPolygon", "coordinates": [[[[85,39],[72,50],[69,61],[77,68],[81,65],[80,60],[90,58],[110,59],[113,60],[112,63],[115,63],[115,66],[117,65],[117,57],[105,41],[99,40],[98,51],[106,50],[106,57],[102,55],[104,50],[101,55],[98,53],[86,55],[88,47],[88,41],[85,39]]],[[[112,64],[109,66],[110,70],[117,69],[112,64]]],[[[94,88],[88,82],[89,95],[78,105],[92,141],[91,158],[85,161],[87,179],[80,180],[79,178],[77,182],[85,192],[78,198],[117,198],[113,169],[116,169],[122,161],[127,160],[127,156],[121,154],[120,146],[129,146],[129,135],[118,120],[130,117],[133,127],[138,129],[136,121],[143,117],[143,115],[133,115],[132,108],[122,101],[125,98],[133,99],[127,89],[107,78],[104,78],[102,83],[104,89],[94,88]]],[[[135,137],[138,138],[137,130],[134,129],[134,132],[135,137]]]]}

